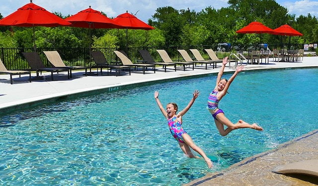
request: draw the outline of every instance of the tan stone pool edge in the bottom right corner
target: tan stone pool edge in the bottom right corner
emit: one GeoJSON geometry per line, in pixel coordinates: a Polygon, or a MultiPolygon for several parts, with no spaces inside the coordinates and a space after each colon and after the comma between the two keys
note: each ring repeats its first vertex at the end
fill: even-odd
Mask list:
{"type": "MultiPolygon", "coordinates": [[[[295,138],[294,140],[282,143],[277,148],[248,157],[225,170],[208,174],[200,179],[194,180],[188,184],[184,184],[183,186],[252,186],[255,184],[257,186],[316,186],[316,184],[310,183],[308,180],[302,180],[296,177],[292,177],[293,175],[285,176],[276,174],[273,173],[272,170],[279,165],[284,165],[287,163],[294,163],[309,159],[318,159],[318,144],[315,142],[317,140],[318,130],[311,131],[301,137],[295,138]],[[304,146],[304,144],[309,143],[310,146],[304,146]],[[312,152],[314,153],[312,153],[309,148],[312,149],[312,152]],[[305,157],[304,155],[308,156],[305,157]],[[286,157],[286,160],[284,159],[284,157],[286,157]],[[257,166],[257,164],[261,164],[260,162],[264,163],[265,161],[270,161],[271,163],[267,162],[267,167],[257,166]],[[254,165],[248,166],[248,164],[254,165]],[[244,175],[245,177],[237,178],[236,175],[239,174],[244,175]],[[262,181],[262,175],[267,175],[265,181],[262,181]]],[[[308,178],[306,177],[306,179],[308,178]]]]}

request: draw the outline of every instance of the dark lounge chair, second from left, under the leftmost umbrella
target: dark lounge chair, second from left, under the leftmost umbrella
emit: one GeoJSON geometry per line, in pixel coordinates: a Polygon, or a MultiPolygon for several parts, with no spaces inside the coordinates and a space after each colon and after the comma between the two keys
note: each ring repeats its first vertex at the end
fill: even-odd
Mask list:
{"type": "Polygon", "coordinates": [[[36,52],[22,52],[24,58],[29,63],[31,70],[36,71],[36,76],[39,76],[39,72],[42,73],[42,71],[51,72],[51,80],[53,81],[53,73],[54,72],[68,72],[68,79],[70,79],[70,71],[65,68],[54,68],[54,67],[46,67],[43,61],[41,60],[40,56],[36,52]]]}

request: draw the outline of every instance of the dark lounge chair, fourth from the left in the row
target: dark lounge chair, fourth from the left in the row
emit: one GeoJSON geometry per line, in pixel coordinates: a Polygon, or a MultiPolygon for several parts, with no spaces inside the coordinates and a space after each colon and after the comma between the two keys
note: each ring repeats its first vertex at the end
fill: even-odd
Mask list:
{"type": "Polygon", "coordinates": [[[131,75],[130,66],[125,65],[109,65],[104,54],[100,51],[92,51],[91,56],[93,57],[93,60],[96,64],[95,67],[97,67],[97,75],[98,75],[98,68],[100,68],[100,73],[103,74],[102,68],[107,68],[107,75],[108,75],[108,69],[110,69],[110,73],[112,69],[116,70],[116,76],[120,74],[121,69],[129,69],[129,75],[131,75]]]}

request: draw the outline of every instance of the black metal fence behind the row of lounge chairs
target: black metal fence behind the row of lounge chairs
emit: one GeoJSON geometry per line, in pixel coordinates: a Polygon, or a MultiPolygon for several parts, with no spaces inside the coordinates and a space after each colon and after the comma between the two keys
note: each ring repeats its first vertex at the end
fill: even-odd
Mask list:
{"type": "MultiPolygon", "coordinates": [[[[303,49],[303,45],[293,45],[296,49],[303,49]]],[[[275,46],[273,46],[275,47],[275,46]]],[[[271,49],[274,49],[271,47],[271,49]]],[[[129,58],[133,63],[137,63],[139,60],[143,60],[138,50],[147,50],[150,52],[151,56],[154,58],[155,62],[162,61],[159,53],[156,51],[157,49],[164,49],[168,55],[170,56],[172,61],[182,61],[183,58],[177,49],[184,49],[188,52],[188,54],[192,56],[192,53],[189,49],[198,49],[202,55],[202,57],[206,60],[210,59],[208,54],[204,51],[204,49],[212,49],[216,52],[219,59],[223,59],[226,56],[229,56],[231,53],[236,53],[239,51],[247,51],[249,48],[239,48],[230,45],[200,45],[200,46],[168,46],[168,47],[133,47],[128,48],[92,48],[91,50],[99,50],[101,51],[108,62],[118,62],[116,54],[113,52],[114,50],[123,50],[127,53],[129,58]]],[[[33,52],[33,48],[0,48],[0,59],[8,70],[28,70],[30,69],[29,64],[24,59],[22,52],[33,52]]],[[[69,66],[94,66],[94,62],[89,57],[89,49],[88,48],[37,48],[36,52],[40,55],[42,61],[46,66],[51,66],[50,62],[48,62],[46,56],[43,51],[58,51],[62,60],[66,65],[69,66]]],[[[306,53],[305,53],[306,54],[306,53]]]]}

